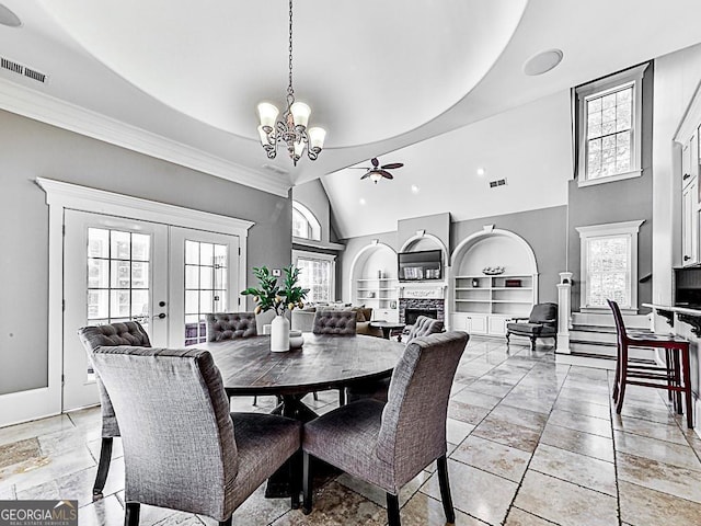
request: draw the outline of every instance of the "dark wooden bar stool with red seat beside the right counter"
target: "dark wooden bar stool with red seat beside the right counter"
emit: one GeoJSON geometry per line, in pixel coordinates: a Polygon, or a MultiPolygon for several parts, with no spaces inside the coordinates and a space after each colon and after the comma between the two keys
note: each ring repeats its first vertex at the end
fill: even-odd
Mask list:
{"type": "Polygon", "coordinates": [[[679,414],[682,414],[681,393],[685,393],[687,426],[690,430],[693,428],[689,341],[675,334],[627,331],[618,304],[610,299],[607,299],[607,302],[613,311],[618,336],[618,359],[616,362],[616,384],[613,386],[613,400],[617,402],[616,413],[621,414],[625,386],[629,384],[667,389],[679,414]],[[664,348],[666,366],[660,367],[631,358],[628,353],[629,347],[664,348]],[[673,392],[676,395],[675,397],[671,397],[673,392]]]}

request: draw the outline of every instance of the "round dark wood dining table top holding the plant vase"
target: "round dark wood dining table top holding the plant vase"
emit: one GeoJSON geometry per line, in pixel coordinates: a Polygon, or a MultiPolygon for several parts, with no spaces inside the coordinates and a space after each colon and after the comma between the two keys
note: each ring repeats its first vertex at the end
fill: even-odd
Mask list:
{"type": "Polygon", "coordinates": [[[200,343],[211,353],[227,393],[299,395],[391,375],[404,345],[367,335],[303,333],[301,348],[271,352],[269,336],[200,343]]]}

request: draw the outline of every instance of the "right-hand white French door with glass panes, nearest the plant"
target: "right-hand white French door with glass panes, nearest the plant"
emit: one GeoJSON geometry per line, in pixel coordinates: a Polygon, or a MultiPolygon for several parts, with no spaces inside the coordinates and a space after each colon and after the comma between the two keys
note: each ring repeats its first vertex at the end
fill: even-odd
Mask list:
{"type": "Polygon", "coordinates": [[[239,237],[171,227],[171,346],[206,341],[206,315],[241,310],[239,237]]]}

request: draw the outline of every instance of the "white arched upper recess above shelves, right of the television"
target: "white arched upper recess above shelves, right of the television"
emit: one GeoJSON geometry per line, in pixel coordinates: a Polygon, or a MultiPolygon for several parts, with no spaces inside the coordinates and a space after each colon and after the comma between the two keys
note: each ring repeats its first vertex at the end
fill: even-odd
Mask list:
{"type": "Polygon", "coordinates": [[[503,266],[506,275],[538,274],[530,244],[509,230],[485,227],[463,239],[452,253],[455,276],[480,275],[486,266],[503,266]]]}

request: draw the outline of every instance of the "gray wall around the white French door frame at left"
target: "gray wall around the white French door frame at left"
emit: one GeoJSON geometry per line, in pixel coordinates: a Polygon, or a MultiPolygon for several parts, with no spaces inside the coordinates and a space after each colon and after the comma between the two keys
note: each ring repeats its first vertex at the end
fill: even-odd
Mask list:
{"type": "Polygon", "coordinates": [[[0,145],[0,395],[47,385],[48,206],[37,176],[255,221],[249,267],[290,262],[290,199],[7,112],[0,145]]]}

